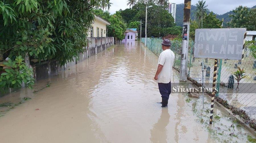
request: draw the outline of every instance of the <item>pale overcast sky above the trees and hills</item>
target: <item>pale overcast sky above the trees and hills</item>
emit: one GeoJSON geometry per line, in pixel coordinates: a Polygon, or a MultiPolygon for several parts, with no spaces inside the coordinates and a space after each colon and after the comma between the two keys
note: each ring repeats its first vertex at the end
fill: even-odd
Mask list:
{"type": "MultiPolygon", "coordinates": [[[[169,0],[171,3],[184,3],[184,0],[169,0]]],[[[198,0],[191,0],[192,5],[195,5],[198,0]]],[[[129,8],[127,6],[127,0],[110,0],[112,6],[110,7],[110,13],[113,14],[119,9],[129,8]]],[[[239,5],[252,7],[256,5],[256,0],[206,0],[208,9],[216,14],[224,14],[239,5]]]]}

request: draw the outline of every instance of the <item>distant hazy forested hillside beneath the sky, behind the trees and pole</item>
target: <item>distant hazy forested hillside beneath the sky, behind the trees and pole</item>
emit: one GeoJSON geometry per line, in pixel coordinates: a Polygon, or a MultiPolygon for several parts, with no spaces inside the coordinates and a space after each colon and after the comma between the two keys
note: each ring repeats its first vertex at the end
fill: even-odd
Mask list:
{"type": "MultiPolygon", "coordinates": [[[[179,25],[179,26],[183,25],[183,8],[184,8],[184,3],[176,5],[176,22],[175,23],[176,25],[179,25]]],[[[256,5],[251,8],[256,8],[256,5]]],[[[196,9],[196,6],[191,5],[191,14],[190,14],[191,19],[194,19],[195,9],[196,9]]],[[[208,11],[207,13],[209,12],[210,11],[208,11]]],[[[216,17],[220,20],[223,18],[224,19],[223,25],[226,26],[226,23],[231,20],[231,18],[228,16],[229,14],[233,14],[232,10],[221,15],[216,14],[217,15],[216,17]]]]}

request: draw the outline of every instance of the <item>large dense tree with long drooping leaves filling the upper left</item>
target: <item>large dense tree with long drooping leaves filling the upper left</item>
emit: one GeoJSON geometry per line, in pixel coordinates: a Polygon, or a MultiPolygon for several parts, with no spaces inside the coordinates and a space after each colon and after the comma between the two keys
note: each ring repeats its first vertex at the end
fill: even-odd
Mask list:
{"type": "MultiPolygon", "coordinates": [[[[92,8],[100,2],[100,0],[1,1],[0,51],[12,61],[17,57],[35,58],[38,61],[57,59],[61,65],[64,65],[79,59],[79,54],[87,45],[88,29],[94,19],[92,8]]],[[[18,59],[20,61],[22,58],[18,59]]],[[[9,72],[7,74],[11,76],[9,72]]],[[[9,76],[5,75],[5,77],[9,76]]],[[[5,79],[0,81],[3,80],[5,79]]],[[[24,79],[22,80],[21,82],[26,83],[24,79]]],[[[11,83],[16,82],[13,80],[11,83]]]]}

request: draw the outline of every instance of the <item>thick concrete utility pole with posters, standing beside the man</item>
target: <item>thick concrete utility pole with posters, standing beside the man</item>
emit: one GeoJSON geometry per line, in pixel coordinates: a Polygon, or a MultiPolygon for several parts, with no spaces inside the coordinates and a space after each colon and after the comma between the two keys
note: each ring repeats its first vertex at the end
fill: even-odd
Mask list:
{"type": "Polygon", "coordinates": [[[190,19],[191,0],[184,0],[184,16],[182,27],[182,53],[180,61],[180,81],[187,81],[187,57],[189,45],[189,19],[190,19]]]}

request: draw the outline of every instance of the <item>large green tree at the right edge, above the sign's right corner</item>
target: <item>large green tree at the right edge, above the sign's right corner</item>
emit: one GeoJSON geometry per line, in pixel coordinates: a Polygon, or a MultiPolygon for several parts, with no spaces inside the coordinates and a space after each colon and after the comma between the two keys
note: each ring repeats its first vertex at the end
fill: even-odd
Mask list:
{"type": "Polygon", "coordinates": [[[233,12],[234,14],[230,14],[232,19],[228,22],[228,26],[232,28],[246,27],[247,30],[256,30],[255,9],[249,10],[246,6],[238,6],[233,12]]]}

